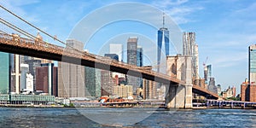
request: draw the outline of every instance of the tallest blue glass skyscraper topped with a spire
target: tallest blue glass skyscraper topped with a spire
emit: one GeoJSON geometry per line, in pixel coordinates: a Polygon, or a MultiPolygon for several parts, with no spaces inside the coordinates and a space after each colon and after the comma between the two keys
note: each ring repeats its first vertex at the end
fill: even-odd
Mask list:
{"type": "Polygon", "coordinates": [[[163,26],[157,32],[157,72],[160,72],[161,57],[165,58],[164,56],[161,56],[161,53],[164,51],[166,56],[169,55],[169,47],[169,31],[165,27],[165,15],[163,15],[163,26]],[[162,46],[165,46],[165,50],[162,49],[162,46]]]}

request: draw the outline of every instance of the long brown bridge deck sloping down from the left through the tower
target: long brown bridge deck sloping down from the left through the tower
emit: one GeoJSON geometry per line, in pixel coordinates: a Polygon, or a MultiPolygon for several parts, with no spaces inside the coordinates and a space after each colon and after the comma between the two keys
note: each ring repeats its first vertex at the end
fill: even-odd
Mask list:
{"type": "MultiPolygon", "coordinates": [[[[173,86],[176,86],[177,84],[185,84],[180,79],[172,78],[166,74],[156,73],[152,70],[143,70],[143,67],[133,66],[120,61],[113,61],[107,57],[93,55],[85,51],[81,52],[68,48],[68,46],[67,48],[64,48],[40,40],[20,38],[14,34],[10,35],[0,33],[0,51],[54,61],[68,62],[86,67],[95,67],[112,72],[129,74],[135,77],[142,77],[143,79],[153,80],[173,86]]],[[[202,96],[207,94],[208,96],[212,96],[213,99],[218,98],[218,96],[214,96],[214,94],[207,90],[203,90],[199,86],[196,88],[193,86],[193,89],[195,89],[196,93],[201,93],[202,96]]]]}

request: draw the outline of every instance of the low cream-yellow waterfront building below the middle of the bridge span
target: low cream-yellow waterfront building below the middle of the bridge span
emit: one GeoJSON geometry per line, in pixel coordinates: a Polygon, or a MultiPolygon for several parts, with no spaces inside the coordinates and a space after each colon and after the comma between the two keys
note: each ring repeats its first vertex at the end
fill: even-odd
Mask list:
{"type": "Polygon", "coordinates": [[[132,85],[120,84],[113,87],[113,94],[115,96],[128,98],[128,96],[132,96],[133,94],[132,88],[132,85]]]}

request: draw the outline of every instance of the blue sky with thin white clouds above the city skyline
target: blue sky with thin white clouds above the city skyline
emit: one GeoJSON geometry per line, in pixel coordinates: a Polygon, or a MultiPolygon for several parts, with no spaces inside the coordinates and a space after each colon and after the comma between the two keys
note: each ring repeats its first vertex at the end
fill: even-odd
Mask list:
{"type": "MultiPolygon", "coordinates": [[[[108,52],[109,43],[125,44],[127,37],[138,36],[138,44],[145,52],[145,65],[155,64],[156,50],[149,48],[156,46],[164,11],[172,46],[176,47],[171,48],[172,54],[180,52],[173,52],[182,45],[180,32],[195,32],[201,77],[202,64],[207,62],[212,65],[216,84],[221,84],[222,90],[234,85],[238,93],[241,82],[248,78],[247,49],[256,40],[253,0],[1,0],[0,4],[62,41],[76,38],[73,35],[79,35],[76,30],[84,22],[84,33],[88,33],[80,35],[87,39],[82,40],[84,49],[98,55],[108,52]]],[[[3,9],[0,15],[34,35],[38,32],[3,9]]],[[[0,27],[9,31],[2,24],[0,27]]],[[[46,36],[44,40],[61,45],[46,36]]]]}

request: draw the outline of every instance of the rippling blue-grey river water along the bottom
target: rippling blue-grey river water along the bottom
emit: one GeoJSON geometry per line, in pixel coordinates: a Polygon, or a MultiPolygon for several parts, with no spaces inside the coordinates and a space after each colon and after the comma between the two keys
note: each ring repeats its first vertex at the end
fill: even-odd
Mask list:
{"type": "Polygon", "coordinates": [[[0,108],[1,128],[119,126],[153,128],[256,127],[256,110],[178,109],[166,111],[140,108],[0,108]]]}

